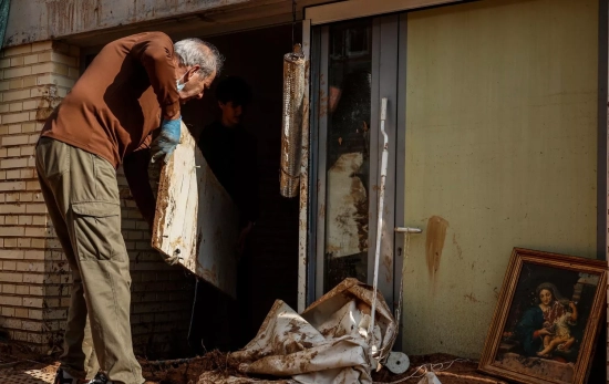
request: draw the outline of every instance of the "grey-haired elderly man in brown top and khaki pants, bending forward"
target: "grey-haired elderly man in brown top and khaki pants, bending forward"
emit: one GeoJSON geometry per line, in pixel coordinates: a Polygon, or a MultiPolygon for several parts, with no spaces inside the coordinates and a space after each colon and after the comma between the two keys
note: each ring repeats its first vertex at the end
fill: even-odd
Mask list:
{"type": "Polygon", "coordinates": [[[90,383],[144,382],[131,338],[130,259],[121,235],[116,167],[124,164],[132,194],[152,225],[147,164],[151,156],[167,160],[179,142],[180,103],[203,97],[221,60],[215,46],[198,39],[174,44],[164,33],[148,32],[116,40],[47,121],[37,145],[38,177],[73,276],[54,384],[83,382],[85,333],[103,372],[90,383]],[[151,133],[158,127],[151,147],[151,133]]]}

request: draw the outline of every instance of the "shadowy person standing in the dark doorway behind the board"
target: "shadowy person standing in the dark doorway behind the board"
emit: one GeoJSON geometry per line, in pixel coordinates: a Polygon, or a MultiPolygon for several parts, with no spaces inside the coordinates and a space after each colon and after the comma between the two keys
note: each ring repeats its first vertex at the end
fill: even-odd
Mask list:
{"type": "Polygon", "coordinates": [[[218,118],[200,134],[198,146],[211,172],[230,195],[239,211],[237,251],[240,259],[237,270],[237,301],[197,282],[193,310],[193,324],[214,322],[209,309],[216,312],[211,329],[221,330],[205,334],[200,326],[192,326],[189,342],[195,352],[204,349],[237,350],[254,336],[251,324],[251,231],[259,216],[256,137],[244,127],[244,115],[252,93],[245,80],[228,76],[216,87],[218,118]],[[224,320],[223,320],[224,319],[224,320]],[[226,319],[230,319],[229,322],[226,319]],[[229,329],[227,329],[229,328],[229,329]]]}

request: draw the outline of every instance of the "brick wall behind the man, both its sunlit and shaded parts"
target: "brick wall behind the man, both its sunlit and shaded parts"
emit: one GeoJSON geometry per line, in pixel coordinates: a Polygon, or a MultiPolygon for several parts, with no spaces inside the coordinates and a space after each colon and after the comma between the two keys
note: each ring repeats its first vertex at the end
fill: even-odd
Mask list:
{"type": "MultiPolygon", "coordinates": [[[[47,216],[34,170],[43,121],[79,76],[79,49],[39,42],[0,52],[0,338],[40,352],[61,346],[71,274],[47,216]]],[[[193,279],[165,264],[126,181],[118,175],[123,235],[132,260],[132,325],[136,351],[179,353],[193,279]]]]}

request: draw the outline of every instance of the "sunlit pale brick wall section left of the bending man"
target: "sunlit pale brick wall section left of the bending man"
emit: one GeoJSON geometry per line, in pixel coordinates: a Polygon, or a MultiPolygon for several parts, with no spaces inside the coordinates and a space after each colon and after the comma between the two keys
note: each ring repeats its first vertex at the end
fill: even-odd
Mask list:
{"type": "Polygon", "coordinates": [[[0,331],[49,350],[65,316],[65,260],[34,174],[42,123],[79,75],[79,50],[9,48],[0,72],[0,331]]]}

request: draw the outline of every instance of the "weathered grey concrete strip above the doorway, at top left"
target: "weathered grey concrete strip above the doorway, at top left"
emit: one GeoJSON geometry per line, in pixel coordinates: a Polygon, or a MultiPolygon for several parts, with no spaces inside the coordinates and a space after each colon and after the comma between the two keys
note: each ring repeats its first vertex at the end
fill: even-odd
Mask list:
{"type": "Polygon", "coordinates": [[[6,46],[145,21],[178,18],[250,0],[17,0],[6,46]]]}

